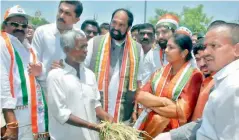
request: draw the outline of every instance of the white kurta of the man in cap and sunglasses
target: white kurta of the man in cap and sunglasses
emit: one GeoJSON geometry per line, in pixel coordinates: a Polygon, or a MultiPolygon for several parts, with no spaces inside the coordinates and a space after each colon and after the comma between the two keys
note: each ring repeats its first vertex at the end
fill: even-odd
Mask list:
{"type": "MultiPolygon", "coordinates": [[[[22,44],[17,38],[14,36],[7,34],[11,44],[14,46],[19,56],[21,57],[24,73],[28,75],[27,66],[30,63],[30,52],[28,50],[27,41],[25,40],[22,44]]],[[[15,109],[16,106],[22,106],[22,87],[21,87],[21,79],[19,76],[16,60],[14,60],[13,65],[13,84],[14,84],[14,93],[15,98],[12,97],[10,92],[10,82],[9,82],[9,71],[11,64],[11,57],[9,51],[6,47],[5,40],[0,36],[1,43],[1,108],[15,109]]],[[[27,79],[26,79],[27,80],[27,79]]],[[[28,82],[27,82],[28,83],[28,82]]],[[[27,84],[27,91],[30,93],[30,85],[27,84]]],[[[28,95],[29,97],[30,95],[28,95]]],[[[30,106],[30,97],[28,98],[28,106],[30,106]]],[[[30,108],[25,108],[15,110],[15,115],[19,122],[19,126],[26,126],[31,124],[30,119],[30,108]]]]}

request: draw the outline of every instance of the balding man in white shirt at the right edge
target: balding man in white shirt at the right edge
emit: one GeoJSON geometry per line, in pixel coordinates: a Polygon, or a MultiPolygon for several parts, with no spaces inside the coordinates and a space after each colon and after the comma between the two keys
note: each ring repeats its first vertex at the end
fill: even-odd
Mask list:
{"type": "Polygon", "coordinates": [[[185,133],[186,137],[172,137],[170,132],[160,134],[155,140],[238,140],[239,25],[222,23],[211,26],[204,44],[208,69],[216,71],[216,74],[213,76],[215,87],[204,108],[202,121],[189,123],[186,129],[182,126],[174,131],[185,133]]]}

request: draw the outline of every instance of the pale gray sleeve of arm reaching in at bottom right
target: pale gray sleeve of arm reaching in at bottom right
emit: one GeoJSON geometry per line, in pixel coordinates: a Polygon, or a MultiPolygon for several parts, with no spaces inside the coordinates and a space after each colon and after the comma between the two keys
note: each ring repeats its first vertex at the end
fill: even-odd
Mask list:
{"type": "Polygon", "coordinates": [[[196,140],[197,130],[201,127],[202,120],[187,123],[170,131],[172,140],[196,140]]]}

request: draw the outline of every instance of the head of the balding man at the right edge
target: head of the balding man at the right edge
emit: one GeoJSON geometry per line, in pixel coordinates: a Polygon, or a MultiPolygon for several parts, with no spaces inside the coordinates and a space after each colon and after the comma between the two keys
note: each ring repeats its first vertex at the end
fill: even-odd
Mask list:
{"type": "Polygon", "coordinates": [[[239,58],[239,25],[212,26],[205,37],[205,60],[210,71],[219,71],[239,58]]]}

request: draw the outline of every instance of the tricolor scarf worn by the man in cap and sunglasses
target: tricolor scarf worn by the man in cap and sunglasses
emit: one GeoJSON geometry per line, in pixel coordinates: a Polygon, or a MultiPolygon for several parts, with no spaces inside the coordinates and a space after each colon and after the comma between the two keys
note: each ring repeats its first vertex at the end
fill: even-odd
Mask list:
{"type": "MultiPolygon", "coordinates": [[[[9,82],[10,82],[10,92],[12,97],[22,97],[22,105],[28,106],[28,102],[31,103],[31,123],[32,132],[34,137],[38,137],[39,134],[48,134],[48,112],[47,104],[44,97],[43,90],[40,84],[37,82],[34,76],[28,74],[24,70],[23,62],[21,56],[17,50],[12,46],[10,38],[6,32],[1,32],[1,36],[6,42],[6,47],[8,49],[11,62],[9,71],[9,82]],[[21,93],[22,95],[17,95],[19,93],[14,92],[14,64],[16,63],[16,68],[18,70],[20,80],[21,80],[21,93]],[[30,88],[27,88],[30,87],[30,88]],[[30,90],[28,90],[30,89],[30,90]],[[28,93],[30,92],[30,94],[28,93]],[[29,99],[30,98],[30,99],[29,99]]],[[[30,52],[30,62],[37,63],[37,57],[32,48],[29,48],[30,52]]]]}

